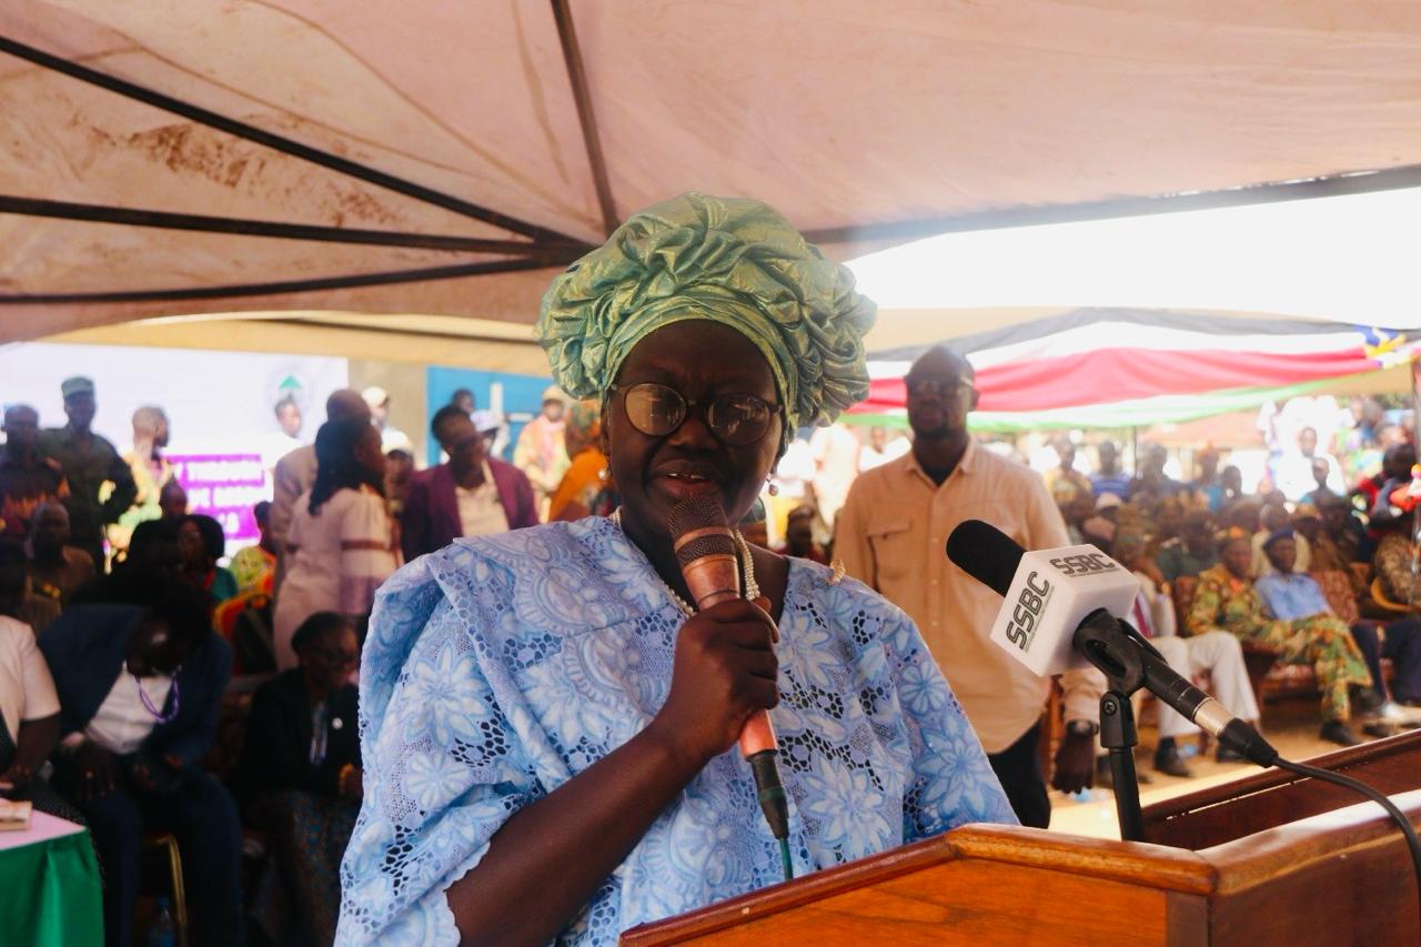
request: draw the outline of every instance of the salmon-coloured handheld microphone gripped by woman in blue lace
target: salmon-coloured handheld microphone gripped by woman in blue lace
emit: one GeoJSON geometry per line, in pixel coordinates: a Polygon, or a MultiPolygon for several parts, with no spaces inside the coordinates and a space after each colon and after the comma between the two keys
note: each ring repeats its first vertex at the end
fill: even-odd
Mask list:
{"type": "MultiPolygon", "coordinates": [[[[740,566],[735,533],[720,503],[710,496],[692,496],[676,503],[668,523],[676,563],[696,609],[705,610],[740,597],[740,566]]],[[[757,710],[740,729],[740,755],[750,764],[755,786],[770,830],[782,842],[790,835],[789,802],[780,782],[779,741],[770,714],[757,710]]],[[[787,865],[787,862],[786,862],[787,865]]]]}

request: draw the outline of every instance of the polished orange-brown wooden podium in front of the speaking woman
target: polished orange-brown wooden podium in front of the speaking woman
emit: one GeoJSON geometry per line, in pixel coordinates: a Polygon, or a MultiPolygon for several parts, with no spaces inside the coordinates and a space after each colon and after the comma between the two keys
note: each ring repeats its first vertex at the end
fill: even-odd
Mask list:
{"type": "MultiPolygon", "coordinates": [[[[1309,761],[1421,823],[1421,731],[1309,761]]],[[[1401,830],[1280,771],[1145,809],[1151,842],[969,825],[622,934],[652,944],[1421,944],[1401,830]]]]}

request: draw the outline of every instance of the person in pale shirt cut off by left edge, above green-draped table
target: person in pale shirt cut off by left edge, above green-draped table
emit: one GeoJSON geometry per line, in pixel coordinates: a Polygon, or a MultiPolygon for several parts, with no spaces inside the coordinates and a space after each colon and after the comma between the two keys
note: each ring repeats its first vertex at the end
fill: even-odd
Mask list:
{"type": "Polygon", "coordinates": [[[0,798],[70,822],[84,816],[50,788],[44,764],[60,739],[60,698],[30,626],[0,616],[0,798]]]}

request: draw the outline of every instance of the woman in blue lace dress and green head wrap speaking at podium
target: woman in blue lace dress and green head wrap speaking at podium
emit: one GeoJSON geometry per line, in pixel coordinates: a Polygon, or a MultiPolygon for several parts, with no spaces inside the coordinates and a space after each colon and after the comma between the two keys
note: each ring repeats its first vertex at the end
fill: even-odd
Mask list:
{"type": "Polygon", "coordinates": [[[796,874],[1015,822],[912,621],[865,586],[740,537],[759,604],[688,604],[671,510],[739,522],[794,429],[867,392],[872,319],[743,199],[649,208],[554,280],[537,331],[605,405],[622,506],[459,540],[379,592],[338,943],[611,944],[782,880],[733,751],[762,708],[796,874]]]}

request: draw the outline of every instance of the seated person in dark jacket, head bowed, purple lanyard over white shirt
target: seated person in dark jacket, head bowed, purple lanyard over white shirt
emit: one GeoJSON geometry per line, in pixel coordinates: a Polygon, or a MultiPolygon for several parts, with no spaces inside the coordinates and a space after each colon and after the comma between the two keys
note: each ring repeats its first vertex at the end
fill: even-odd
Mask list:
{"type": "Polygon", "coordinates": [[[200,768],[232,653],[196,589],[135,582],[146,607],[74,606],[40,638],[61,708],[54,786],[84,812],[104,865],[105,943],[129,943],[139,839],[162,829],[182,852],[192,943],[236,944],[237,812],[200,768]]]}

